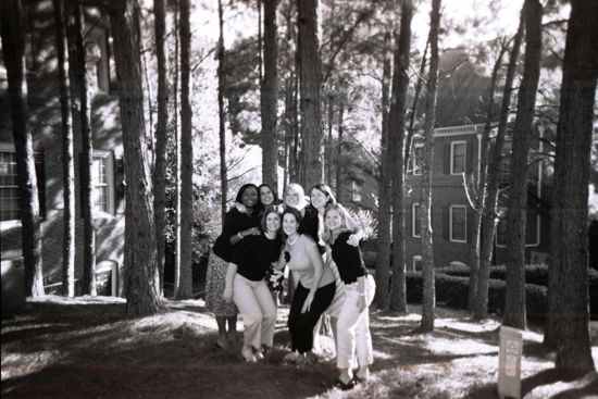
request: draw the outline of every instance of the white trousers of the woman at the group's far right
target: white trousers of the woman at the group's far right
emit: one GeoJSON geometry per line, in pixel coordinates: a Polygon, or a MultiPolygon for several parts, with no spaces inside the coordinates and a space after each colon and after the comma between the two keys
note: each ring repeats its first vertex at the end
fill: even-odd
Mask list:
{"type": "Polygon", "coordinates": [[[357,369],[358,365],[367,366],[374,362],[369,307],[374,299],[376,284],[374,278],[367,275],[365,280],[365,310],[362,312],[358,309],[360,298],[358,284],[353,283],[345,287],[345,300],[336,325],[336,366],[338,369],[357,369]]]}

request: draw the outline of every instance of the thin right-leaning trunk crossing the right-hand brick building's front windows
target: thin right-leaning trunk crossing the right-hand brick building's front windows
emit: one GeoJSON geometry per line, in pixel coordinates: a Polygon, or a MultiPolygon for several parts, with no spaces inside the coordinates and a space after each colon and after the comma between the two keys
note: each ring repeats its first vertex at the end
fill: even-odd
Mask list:
{"type": "Polygon", "coordinates": [[[490,77],[490,88],[488,93],[488,111],[486,114],[486,123],[484,124],[484,132],[482,133],[482,139],[479,144],[479,167],[477,173],[477,184],[475,185],[475,198],[473,199],[473,220],[472,220],[472,233],[469,242],[469,258],[470,258],[470,285],[468,295],[468,309],[473,311],[475,304],[475,298],[477,295],[477,277],[479,273],[479,245],[482,233],[482,215],[484,213],[484,198],[486,197],[486,176],[488,173],[488,149],[490,142],[490,130],[493,127],[494,119],[494,104],[495,104],[495,90],[498,79],[498,72],[502,65],[502,57],[507,51],[507,46],[501,45],[495,65],[493,67],[493,74],[490,77]]]}

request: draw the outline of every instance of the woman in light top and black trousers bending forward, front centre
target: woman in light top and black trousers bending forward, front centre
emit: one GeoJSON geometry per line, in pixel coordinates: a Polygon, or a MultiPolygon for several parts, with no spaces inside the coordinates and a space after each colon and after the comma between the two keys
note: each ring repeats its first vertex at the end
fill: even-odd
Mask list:
{"type": "MultiPolygon", "coordinates": [[[[312,360],[313,328],[334,298],[335,277],[324,267],[317,245],[303,233],[303,217],[297,209],[287,207],[283,212],[283,232],[284,260],[298,277],[288,315],[291,350],[302,361],[312,360]]],[[[284,267],[284,262],[277,267],[284,267]]]]}

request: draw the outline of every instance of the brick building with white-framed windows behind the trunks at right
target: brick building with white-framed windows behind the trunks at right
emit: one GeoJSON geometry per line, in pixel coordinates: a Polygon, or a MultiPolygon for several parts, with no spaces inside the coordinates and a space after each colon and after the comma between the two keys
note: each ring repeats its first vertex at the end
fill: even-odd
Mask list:
{"type": "MultiPolygon", "coordinates": [[[[441,127],[434,130],[433,177],[432,177],[432,228],[434,232],[434,264],[447,266],[452,263],[469,264],[469,242],[472,234],[473,210],[463,186],[463,173],[477,177],[479,173],[479,147],[482,144],[483,124],[441,127]]],[[[495,127],[496,129],[496,127],[495,127]]],[[[496,133],[496,132],[494,132],[496,133]]],[[[493,136],[493,134],[490,135],[493,136]]],[[[494,138],[494,136],[493,136],[494,138]]],[[[494,140],[491,140],[494,142],[494,140]]],[[[536,148],[541,152],[541,144],[536,140],[536,148]]],[[[423,142],[415,140],[413,157],[406,178],[410,195],[406,200],[407,220],[407,267],[418,270],[421,262],[420,241],[420,187],[421,153],[423,142]]],[[[506,254],[506,205],[509,179],[510,138],[507,137],[503,159],[501,161],[501,179],[499,195],[500,220],[495,239],[493,260],[500,264],[506,254]]],[[[528,171],[528,201],[526,219],[525,257],[527,262],[547,261],[550,225],[547,205],[544,200],[548,185],[545,161],[532,163],[528,171]]]]}

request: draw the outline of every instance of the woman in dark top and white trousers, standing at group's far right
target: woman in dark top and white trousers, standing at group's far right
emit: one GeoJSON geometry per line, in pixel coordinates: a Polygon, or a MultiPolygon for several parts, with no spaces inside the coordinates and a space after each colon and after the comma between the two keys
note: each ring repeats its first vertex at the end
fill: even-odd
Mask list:
{"type": "Polygon", "coordinates": [[[367,379],[369,366],[374,361],[367,307],[374,297],[375,283],[364,266],[359,246],[348,242],[349,237],[357,233],[357,223],[345,208],[340,204],[326,208],[324,222],[324,240],[329,246],[328,261],[336,263],[345,284],[345,298],[336,327],[338,381],[341,387],[350,387],[353,384],[353,369],[359,366],[359,379],[367,379]]]}

